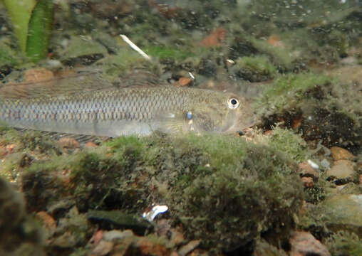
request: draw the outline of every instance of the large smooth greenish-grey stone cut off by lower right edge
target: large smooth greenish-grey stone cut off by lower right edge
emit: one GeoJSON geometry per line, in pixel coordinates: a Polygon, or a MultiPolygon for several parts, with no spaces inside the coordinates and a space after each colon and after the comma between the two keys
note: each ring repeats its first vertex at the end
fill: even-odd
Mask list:
{"type": "Polygon", "coordinates": [[[333,230],[348,230],[362,235],[362,195],[342,194],[327,198],[322,210],[326,216],[326,226],[333,230]]]}

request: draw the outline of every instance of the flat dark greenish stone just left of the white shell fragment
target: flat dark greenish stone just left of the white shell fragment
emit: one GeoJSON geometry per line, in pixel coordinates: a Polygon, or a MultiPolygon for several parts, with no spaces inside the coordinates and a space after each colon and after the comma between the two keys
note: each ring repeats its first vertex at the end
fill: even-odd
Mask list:
{"type": "Polygon", "coordinates": [[[113,228],[130,229],[138,235],[144,235],[145,230],[152,228],[147,220],[120,210],[90,210],[87,217],[90,222],[100,224],[100,227],[105,230],[113,228]]]}

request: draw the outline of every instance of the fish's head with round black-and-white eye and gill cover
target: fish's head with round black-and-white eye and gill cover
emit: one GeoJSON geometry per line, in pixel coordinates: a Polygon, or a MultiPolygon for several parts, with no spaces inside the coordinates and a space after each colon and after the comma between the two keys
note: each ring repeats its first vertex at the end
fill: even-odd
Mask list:
{"type": "Polygon", "coordinates": [[[244,97],[210,92],[186,113],[187,129],[192,132],[232,133],[251,127],[256,115],[244,97]]]}

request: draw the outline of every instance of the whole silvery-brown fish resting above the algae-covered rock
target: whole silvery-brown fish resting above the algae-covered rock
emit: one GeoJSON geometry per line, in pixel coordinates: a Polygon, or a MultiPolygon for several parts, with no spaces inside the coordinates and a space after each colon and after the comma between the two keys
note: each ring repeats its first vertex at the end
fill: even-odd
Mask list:
{"type": "Polygon", "coordinates": [[[230,92],[137,82],[114,87],[99,75],[0,88],[0,122],[19,129],[102,137],[228,133],[250,127],[254,117],[244,97],[230,92]]]}

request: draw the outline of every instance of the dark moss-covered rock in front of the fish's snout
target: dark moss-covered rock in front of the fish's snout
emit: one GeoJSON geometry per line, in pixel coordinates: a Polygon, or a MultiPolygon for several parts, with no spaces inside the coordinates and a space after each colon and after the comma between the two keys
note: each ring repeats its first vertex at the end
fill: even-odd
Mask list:
{"type": "Polygon", "coordinates": [[[264,127],[282,120],[306,140],[357,152],[361,147],[361,97],[353,84],[314,73],[284,75],[264,90],[255,109],[264,127]]]}

